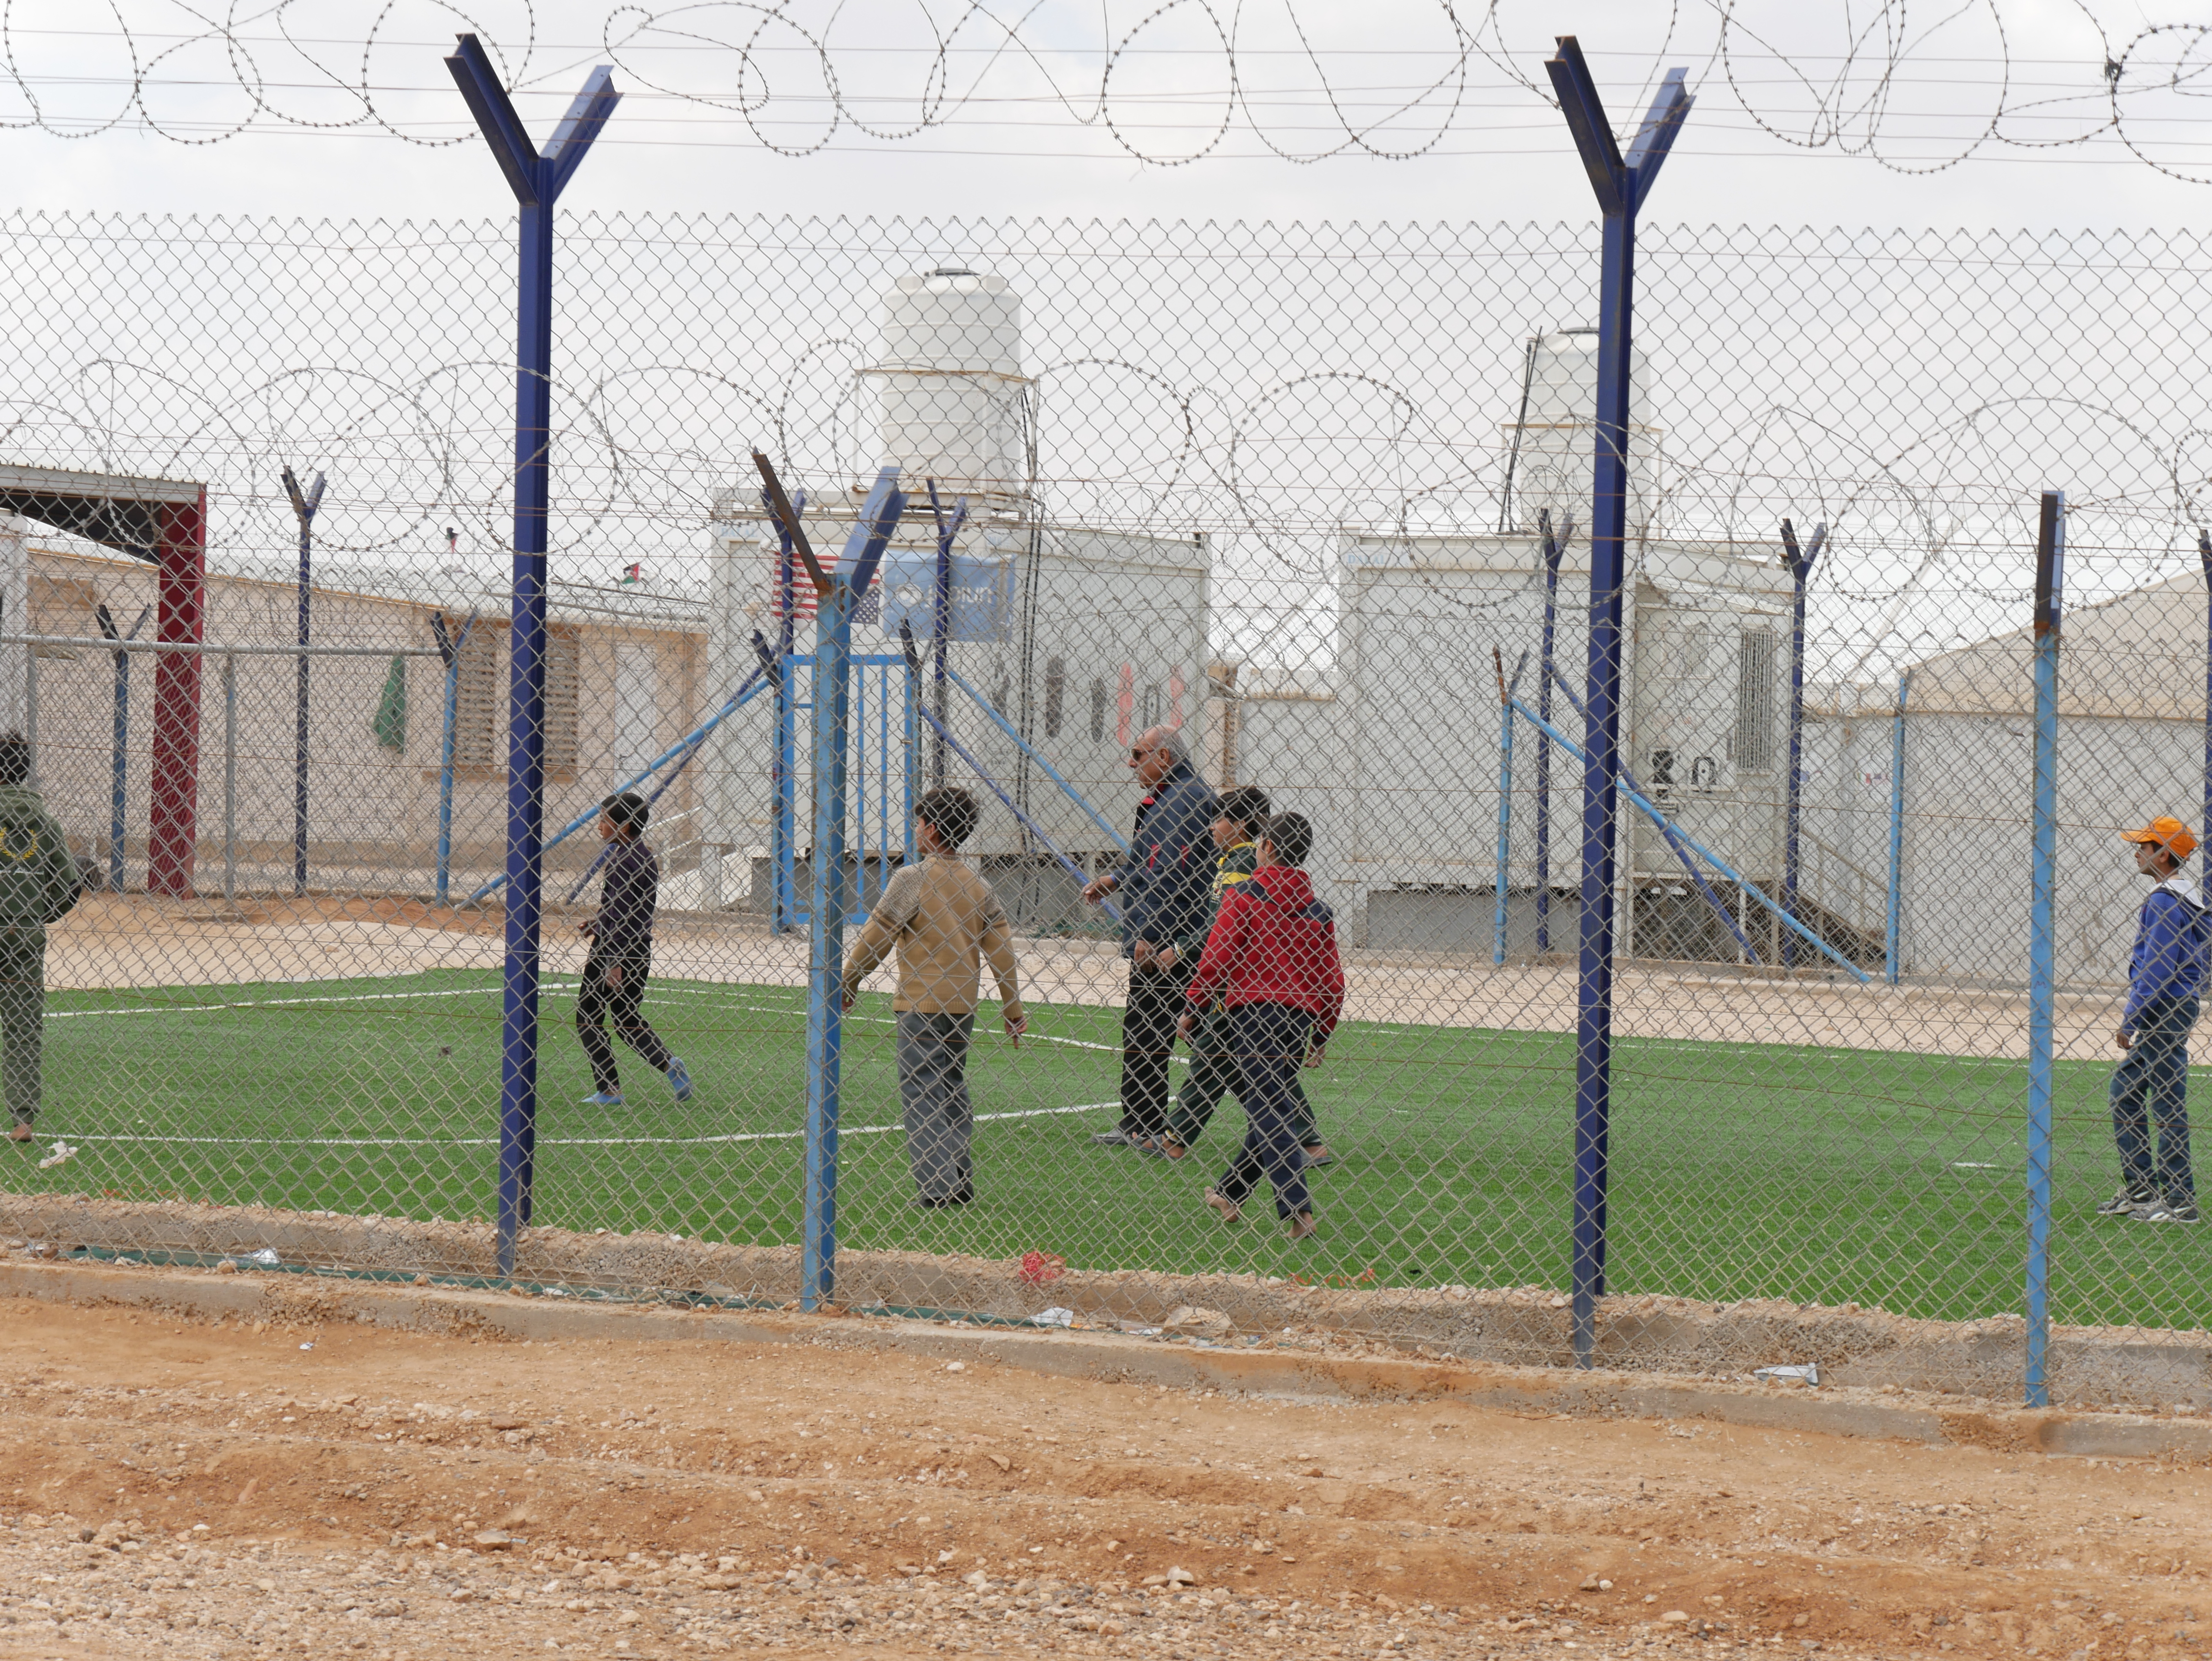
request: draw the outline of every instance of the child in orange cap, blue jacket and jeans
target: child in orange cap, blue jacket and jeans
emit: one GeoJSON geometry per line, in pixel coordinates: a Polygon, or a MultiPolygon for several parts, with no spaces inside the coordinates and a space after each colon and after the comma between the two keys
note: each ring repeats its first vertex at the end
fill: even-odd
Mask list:
{"type": "Polygon", "coordinates": [[[2112,1137],[2119,1141],[2119,1192],[2099,1216],[2139,1223],[2194,1223],[2197,1183],[2190,1174],[2190,1026],[2205,978],[2212,918],[2197,878],[2181,876],[2181,860],[2197,838],[2179,818],[2152,818],[2135,843],[2135,869],[2154,878],[2135,927],[2128,955],[2128,1006],[2115,1042],[2128,1059],[2112,1070],[2112,1137]],[[2152,1161],[2157,1130],[2157,1161],[2152,1161]]]}

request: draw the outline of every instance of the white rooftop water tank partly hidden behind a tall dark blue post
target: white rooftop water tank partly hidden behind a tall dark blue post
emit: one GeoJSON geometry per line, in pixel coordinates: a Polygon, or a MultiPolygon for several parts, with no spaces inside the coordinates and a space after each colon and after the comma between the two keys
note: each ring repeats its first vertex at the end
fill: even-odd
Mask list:
{"type": "MultiPolygon", "coordinates": [[[[1628,354],[1628,535],[1655,531],[1659,427],[1652,425],[1644,354],[1628,354]]],[[[1515,418],[1502,422],[1511,467],[1511,524],[1575,522],[1590,531],[1590,467],[1597,456],[1597,330],[1553,330],[1528,343],[1515,418]]]]}

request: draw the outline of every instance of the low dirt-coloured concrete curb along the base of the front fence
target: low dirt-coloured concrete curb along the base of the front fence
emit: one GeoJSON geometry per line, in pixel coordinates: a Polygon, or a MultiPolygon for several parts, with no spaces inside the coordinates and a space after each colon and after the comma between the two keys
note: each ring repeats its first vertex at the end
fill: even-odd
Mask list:
{"type": "Polygon", "coordinates": [[[1566,1373],[1548,1367],[1214,1349],[1110,1331],[1009,1331],[849,1314],[637,1309],[447,1287],[75,1263],[0,1263],[0,1296],[166,1309],[210,1320],[352,1320],[394,1331],[473,1334],[513,1343],[827,1345],[1168,1389],[1460,1402],[1562,1418],[1719,1420],[1767,1431],[1863,1435],[1993,1453],[2212,1462],[2212,1424],[2033,1411],[1955,1396],[1783,1391],[1655,1378],[1644,1371],[1566,1373]]]}

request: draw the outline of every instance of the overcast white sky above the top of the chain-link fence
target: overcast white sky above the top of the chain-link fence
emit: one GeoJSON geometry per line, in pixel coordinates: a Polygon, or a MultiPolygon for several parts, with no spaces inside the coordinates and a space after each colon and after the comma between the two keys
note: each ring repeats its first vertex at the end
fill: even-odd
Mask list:
{"type": "MultiPolygon", "coordinates": [[[[628,100],[571,186],[568,208],[1586,219],[1590,195],[1564,126],[1526,84],[1542,84],[1551,38],[1577,33],[1617,128],[1632,126],[1663,64],[1686,64],[1701,93],[1646,210],[1655,219],[2179,228],[2212,210],[2212,184],[2163,177],[2115,133],[2099,133],[2115,108],[2106,60],[2117,60],[2119,108],[2137,144],[2212,177],[2212,144],[2188,137],[2203,126],[2192,77],[2205,66],[2208,31],[2194,20],[2188,29],[2159,27],[2179,20],[2179,0],[1984,0],[1960,7],[1931,33],[1900,33],[1902,24],[1927,29],[1920,11],[1860,0],[1851,9],[1856,38],[1843,33],[1838,0],[1741,0],[1728,4],[1725,58],[1719,0],[1478,2],[1458,9],[1460,33],[1438,0],[1301,0],[1296,24],[1314,58],[1290,51],[1301,35],[1290,29],[1285,0],[1248,0],[1234,9],[1243,104],[1228,113],[1214,153],[1190,166],[1130,157],[1099,119],[1097,95],[1108,49],[1119,44],[1110,108],[1124,130],[1161,153],[1197,148],[1223,122],[1230,80],[1217,13],[1199,0],[1183,0],[1144,29],[1155,7],[1121,0],[1009,9],[1009,18],[1024,18],[1018,31],[978,24],[938,0],[790,0],[781,11],[787,22],[757,33],[759,51],[741,60],[728,42],[745,40],[759,9],[630,9],[628,35],[608,51],[606,0],[553,0],[535,11],[520,0],[471,7],[520,84],[518,102],[540,137],[591,62],[617,64],[628,100]],[[962,18],[953,51],[936,58],[929,40],[962,18]],[[1885,55],[1885,35],[1902,46],[1896,64],[1885,55]],[[763,148],[726,108],[699,102],[726,100],[739,84],[765,86],[765,130],[792,144],[818,139],[830,102],[810,40],[827,42],[852,108],[885,124],[914,119],[918,93],[933,84],[940,62],[962,100],[920,137],[876,139],[845,126],[805,157],[763,148]],[[1464,86],[1455,80],[1460,64],[1464,86]],[[1416,148],[1433,139],[1433,148],[1416,159],[1336,155],[1305,166],[1265,155],[1259,128],[1285,148],[1340,144],[1343,119],[1332,104],[1358,126],[1380,122],[1385,144],[1416,148]],[[1396,104],[1405,108],[1387,113],[1396,104]],[[1820,135],[1827,111],[1840,137],[1794,148],[1761,130],[1747,104],[1798,135],[1820,135]],[[1986,139],[1978,157],[1924,177],[1843,148],[1878,126],[1882,148],[1931,164],[1991,122],[2000,137],[1986,139]],[[2068,137],[2090,142],[2004,142],[2068,137]]],[[[60,133],[124,117],[88,137],[38,126],[0,133],[15,206],[414,219],[511,208],[476,144],[420,148],[383,133],[301,126],[358,117],[358,93],[345,84],[367,80],[378,113],[403,130],[460,130],[460,100],[438,62],[456,27],[447,7],[403,0],[378,24],[372,7],[296,0],[239,24],[268,102],[290,122],[263,117],[257,130],[217,144],[155,135],[146,117],[195,139],[234,122],[248,106],[223,42],[195,33],[201,27],[170,0],[122,0],[119,15],[128,42],[69,0],[11,7],[18,80],[0,86],[0,117],[29,115],[29,100],[60,133]],[[372,27],[380,33],[363,55],[372,27]],[[164,51],[170,55],[159,58],[164,51]],[[150,82],[135,111],[133,62],[150,82]]],[[[1219,13],[1223,24],[1230,15],[1219,13]]]]}

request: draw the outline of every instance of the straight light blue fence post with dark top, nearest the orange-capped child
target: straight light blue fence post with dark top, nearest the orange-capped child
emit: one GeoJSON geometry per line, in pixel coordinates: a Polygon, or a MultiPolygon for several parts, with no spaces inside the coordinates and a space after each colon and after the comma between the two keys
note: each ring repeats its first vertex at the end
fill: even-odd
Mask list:
{"type": "Polygon", "coordinates": [[[2035,537],[2035,900],[2028,927],[2028,1407],[2051,1407],[2051,1046],[2057,991],[2059,606],[2066,493],[2044,491],[2035,537]]]}

